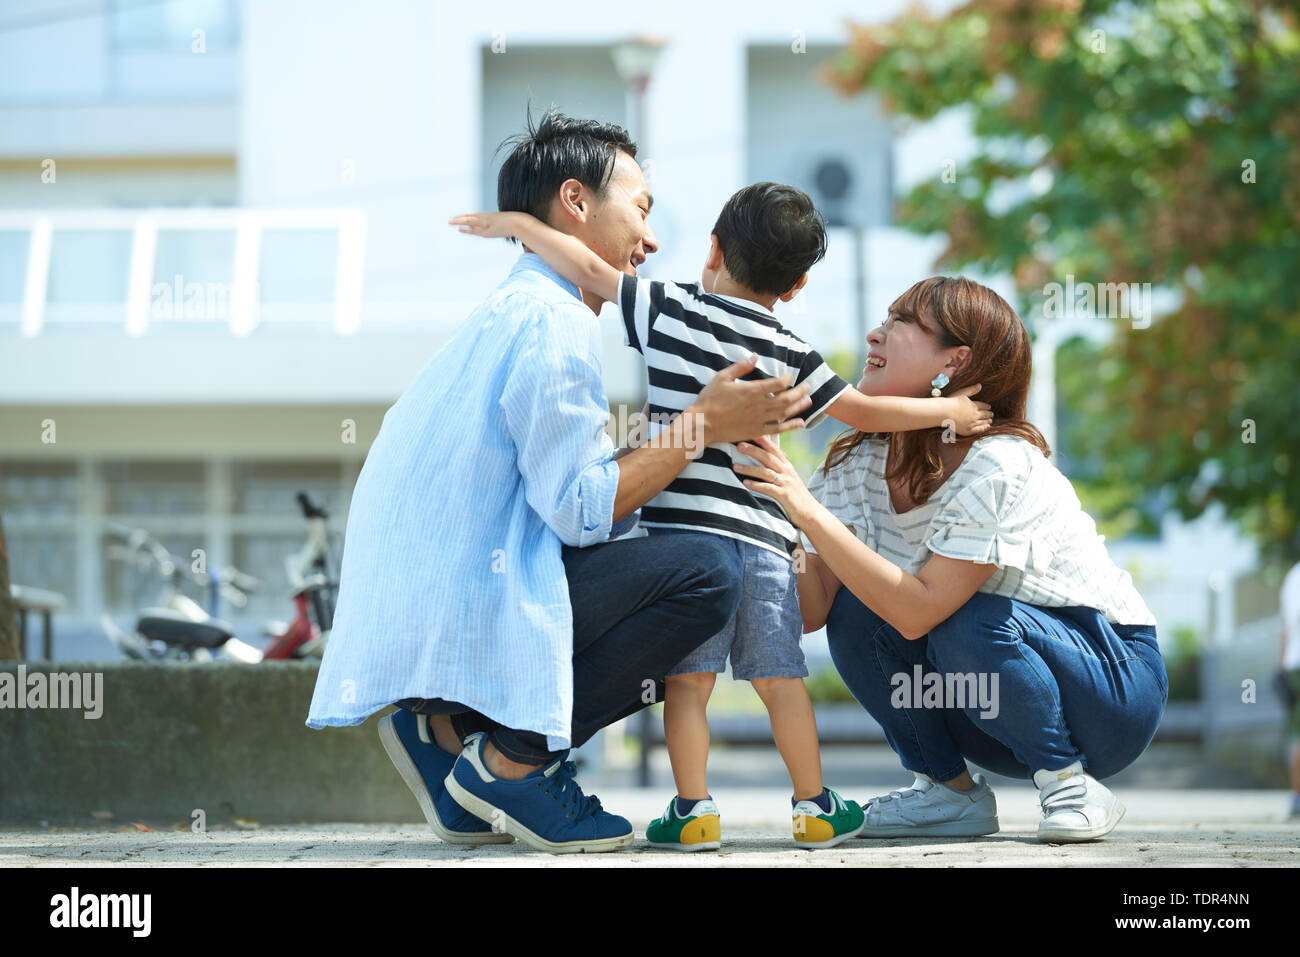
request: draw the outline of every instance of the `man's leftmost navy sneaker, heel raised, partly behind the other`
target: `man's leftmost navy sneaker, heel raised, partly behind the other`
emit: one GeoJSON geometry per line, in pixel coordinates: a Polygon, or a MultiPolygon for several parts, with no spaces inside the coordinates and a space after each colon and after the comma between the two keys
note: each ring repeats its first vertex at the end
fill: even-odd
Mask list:
{"type": "Polygon", "coordinates": [[[380,740],[402,780],[411,788],[433,832],[447,844],[510,844],[515,839],[476,818],[447,794],[443,784],[456,755],[429,735],[426,715],[398,709],[380,719],[380,740]]]}

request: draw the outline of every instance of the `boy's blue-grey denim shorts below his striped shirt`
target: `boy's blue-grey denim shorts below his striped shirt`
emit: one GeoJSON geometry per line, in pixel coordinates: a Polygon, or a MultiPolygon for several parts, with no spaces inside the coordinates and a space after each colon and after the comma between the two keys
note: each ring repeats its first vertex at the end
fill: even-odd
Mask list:
{"type": "MultiPolygon", "coordinates": [[[[708,534],[708,529],[645,527],[646,534],[708,534]]],[[[732,545],[745,568],[745,590],[740,607],[727,627],[688,654],[668,676],[727,671],[731,657],[733,677],[807,677],[800,641],[803,618],[800,614],[798,580],[794,566],[771,549],[716,536],[732,545]]]]}

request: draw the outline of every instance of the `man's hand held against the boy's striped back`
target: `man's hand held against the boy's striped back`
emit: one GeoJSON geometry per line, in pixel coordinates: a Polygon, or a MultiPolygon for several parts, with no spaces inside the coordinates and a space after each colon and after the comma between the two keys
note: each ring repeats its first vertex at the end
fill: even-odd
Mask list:
{"type": "Polygon", "coordinates": [[[790,377],[741,381],[753,372],[758,356],[732,363],[714,376],[696,400],[682,412],[694,416],[696,434],[702,445],[740,442],[758,436],[790,432],[803,426],[802,419],[790,419],[812,404],[807,385],[790,389],[790,377]]]}

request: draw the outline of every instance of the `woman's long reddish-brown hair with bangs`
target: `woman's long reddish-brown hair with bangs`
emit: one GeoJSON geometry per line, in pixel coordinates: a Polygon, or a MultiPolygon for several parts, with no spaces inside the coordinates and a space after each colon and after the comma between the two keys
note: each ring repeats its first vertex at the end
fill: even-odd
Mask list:
{"type": "MultiPolygon", "coordinates": [[[[914,322],[919,317],[928,319],[939,329],[940,348],[970,347],[970,359],[949,385],[956,390],[980,382],[980,390],[971,399],[992,406],[993,424],[976,436],[957,436],[957,445],[970,445],[989,436],[1019,436],[1037,446],[1044,456],[1052,454],[1043,433],[1024,419],[1032,348],[1024,324],[1002,296],[971,280],[933,276],[894,299],[889,315],[914,322]]],[[[893,464],[885,480],[905,478],[913,502],[923,505],[944,481],[939,456],[944,432],[940,426],[910,432],[846,432],[831,443],[822,471],[829,472],[866,439],[887,438],[893,464]]]]}

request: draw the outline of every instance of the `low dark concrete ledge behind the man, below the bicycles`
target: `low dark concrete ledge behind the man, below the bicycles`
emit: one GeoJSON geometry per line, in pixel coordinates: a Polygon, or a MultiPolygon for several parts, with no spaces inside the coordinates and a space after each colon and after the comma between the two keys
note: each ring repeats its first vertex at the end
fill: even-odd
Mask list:
{"type": "Polygon", "coordinates": [[[306,726],[315,662],[5,662],[0,675],[20,667],[101,674],[101,715],[0,710],[0,824],[188,822],[200,809],[213,824],[411,817],[374,727],[389,709],[328,733],[306,726]]]}

